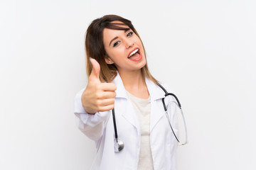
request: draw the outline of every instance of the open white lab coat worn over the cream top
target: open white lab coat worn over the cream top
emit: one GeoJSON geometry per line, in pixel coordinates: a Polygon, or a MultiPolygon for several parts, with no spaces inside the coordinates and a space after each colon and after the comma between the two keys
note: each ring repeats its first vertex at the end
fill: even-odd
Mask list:
{"type": "MultiPolygon", "coordinates": [[[[114,98],[114,111],[117,122],[118,138],[124,142],[121,152],[114,152],[114,125],[112,111],[98,112],[95,115],[88,114],[82,108],[82,89],[75,96],[75,117],[78,128],[87,137],[95,140],[97,154],[92,164],[92,170],[135,170],[139,162],[141,130],[139,119],[134,111],[131,101],[127,98],[126,90],[121,77],[117,74],[114,81],[117,86],[117,96],[114,98]]],[[[176,148],[178,143],[171,132],[168,120],[164,112],[161,98],[164,91],[146,79],[146,86],[151,97],[150,119],[150,145],[155,170],[176,170],[176,148]]],[[[166,89],[169,93],[169,89],[166,89]]],[[[168,96],[165,99],[168,112],[176,112],[175,99],[168,96]]],[[[171,124],[177,132],[177,120],[175,114],[171,114],[171,124]]]]}

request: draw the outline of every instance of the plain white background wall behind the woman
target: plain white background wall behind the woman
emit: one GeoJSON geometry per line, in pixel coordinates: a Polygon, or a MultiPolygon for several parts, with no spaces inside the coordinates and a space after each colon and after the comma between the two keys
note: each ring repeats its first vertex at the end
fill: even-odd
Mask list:
{"type": "Polygon", "coordinates": [[[117,14],[137,28],[151,73],[176,90],[189,144],[178,170],[256,169],[255,1],[0,1],[0,169],[89,169],[75,126],[84,35],[117,14]]]}

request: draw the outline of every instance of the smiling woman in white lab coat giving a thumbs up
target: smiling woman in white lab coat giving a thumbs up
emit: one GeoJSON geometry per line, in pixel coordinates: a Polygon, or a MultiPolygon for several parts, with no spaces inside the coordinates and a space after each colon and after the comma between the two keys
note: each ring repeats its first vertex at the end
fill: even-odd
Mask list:
{"type": "MultiPolygon", "coordinates": [[[[78,128],[96,143],[92,169],[176,169],[177,142],[165,117],[164,91],[149,72],[132,23],[114,15],[97,18],[87,28],[85,48],[88,84],[75,96],[75,115],[78,128]],[[124,142],[120,152],[114,148],[113,108],[124,142]]],[[[176,110],[169,104],[174,100],[165,99],[169,113],[176,110]]],[[[176,118],[170,119],[176,131],[176,118]]]]}

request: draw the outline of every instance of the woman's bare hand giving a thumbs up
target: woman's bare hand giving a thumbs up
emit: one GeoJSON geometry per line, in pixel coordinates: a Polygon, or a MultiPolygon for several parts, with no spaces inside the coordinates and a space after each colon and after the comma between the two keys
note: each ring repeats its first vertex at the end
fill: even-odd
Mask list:
{"type": "Polygon", "coordinates": [[[85,111],[95,114],[98,111],[110,111],[114,108],[114,97],[117,86],[112,83],[100,82],[100,64],[90,58],[92,72],[88,77],[88,84],[82,92],[82,106],[85,111]]]}

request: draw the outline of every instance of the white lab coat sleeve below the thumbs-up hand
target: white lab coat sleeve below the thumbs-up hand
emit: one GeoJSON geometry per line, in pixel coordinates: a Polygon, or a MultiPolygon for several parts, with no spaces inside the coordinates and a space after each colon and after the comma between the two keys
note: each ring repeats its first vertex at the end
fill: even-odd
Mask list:
{"type": "Polygon", "coordinates": [[[107,124],[108,118],[110,118],[110,111],[97,112],[95,114],[89,114],[82,107],[81,96],[82,89],[75,96],[75,122],[78,128],[91,140],[99,140],[107,124]]]}

